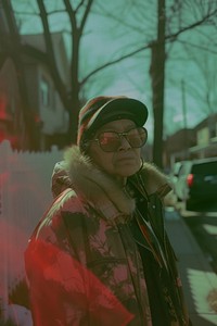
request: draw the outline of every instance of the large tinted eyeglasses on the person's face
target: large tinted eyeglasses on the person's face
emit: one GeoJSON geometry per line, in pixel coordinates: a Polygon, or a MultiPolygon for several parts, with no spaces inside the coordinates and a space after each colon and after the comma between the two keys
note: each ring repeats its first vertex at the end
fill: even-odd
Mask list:
{"type": "Polygon", "coordinates": [[[131,128],[125,133],[104,131],[93,141],[98,141],[104,152],[116,152],[122,146],[122,137],[125,137],[131,148],[142,147],[148,139],[148,131],[143,127],[131,128]]]}

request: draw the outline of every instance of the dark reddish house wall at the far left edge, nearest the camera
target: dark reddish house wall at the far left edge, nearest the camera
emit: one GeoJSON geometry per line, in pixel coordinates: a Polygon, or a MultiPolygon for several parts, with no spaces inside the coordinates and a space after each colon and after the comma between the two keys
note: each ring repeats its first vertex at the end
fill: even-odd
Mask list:
{"type": "Polygon", "coordinates": [[[15,20],[9,25],[5,7],[0,2],[0,142],[9,139],[12,148],[28,148],[28,135],[25,127],[24,103],[20,85],[20,73],[15,59],[11,28],[15,30],[15,20]]]}

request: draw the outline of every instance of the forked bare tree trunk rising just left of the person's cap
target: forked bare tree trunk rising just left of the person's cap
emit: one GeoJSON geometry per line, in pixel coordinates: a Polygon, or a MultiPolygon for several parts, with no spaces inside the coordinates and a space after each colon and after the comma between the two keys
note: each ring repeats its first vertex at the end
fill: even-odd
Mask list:
{"type": "Polygon", "coordinates": [[[47,48],[48,63],[50,67],[50,73],[53,77],[54,85],[59,91],[59,95],[62,99],[64,106],[69,113],[69,130],[68,138],[69,140],[75,141],[77,135],[77,121],[78,121],[78,110],[80,106],[79,100],[79,91],[80,91],[80,83],[78,76],[78,65],[79,65],[79,43],[80,38],[84,33],[85,24],[87,17],[90,13],[90,9],[93,0],[80,1],[77,7],[73,8],[68,0],[64,0],[65,10],[68,14],[71,22],[71,30],[72,30],[72,60],[71,60],[71,92],[68,93],[63,80],[61,79],[60,73],[58,71],[53,45],[51,39],[51,30],[48,22],[48,13],[44,7],[43,0],[37,0],[38,8],[40,11],[40,16],[43,25],[44,33],[44,41],[47,48]],[[86,9],[82,13],[80,24],[78,25],[78,21],[76,15],[80,9],[86,3],[86,9]]]}

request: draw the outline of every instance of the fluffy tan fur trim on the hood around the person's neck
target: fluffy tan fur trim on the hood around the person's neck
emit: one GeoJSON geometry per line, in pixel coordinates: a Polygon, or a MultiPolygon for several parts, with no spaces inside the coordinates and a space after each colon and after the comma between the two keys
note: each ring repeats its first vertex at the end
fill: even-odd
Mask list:
{"type": "MultiPolygon", "coordinates": [[[[170,190],[167,177],[154,165],[144,163],[141,175],[148,195],[158,191],[164,197],[170,190]]],[[[129,215],[135,210],[135,199],[112,176],[99,170],[77,146],[65,151],[64,161],[56,163],[52,175],[53,197],[66,188],[73,188],[81,200],[107,217],[129,215]]]]}

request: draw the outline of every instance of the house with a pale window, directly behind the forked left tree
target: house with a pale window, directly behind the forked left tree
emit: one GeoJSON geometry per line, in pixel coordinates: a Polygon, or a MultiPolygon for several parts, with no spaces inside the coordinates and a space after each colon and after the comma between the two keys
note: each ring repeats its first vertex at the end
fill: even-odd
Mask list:
{"type": "MultiPolygon", "coordinates": [[[[63,35],[61,33],[52,34],[52,42],[59,73],[66,89],[69,90],[69,64],[63,35]]],[[[24,55],[25,79],[29,106],[40,125],[39,147],[41,150],[49,150],[54,145],[62,147],[68,129],[69,117],[43,59],[46,52],[43,35],[23,35],[22,45],[29,46],[27,48],[31,50],[24,55]]]]}

